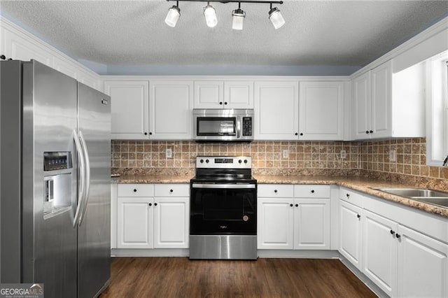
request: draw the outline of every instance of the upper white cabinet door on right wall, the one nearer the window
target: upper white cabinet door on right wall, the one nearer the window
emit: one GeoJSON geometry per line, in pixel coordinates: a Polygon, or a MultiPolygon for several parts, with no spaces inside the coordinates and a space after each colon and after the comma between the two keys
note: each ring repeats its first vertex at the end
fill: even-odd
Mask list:
{"type": "Polygon", "coordinates": [[[392,60],[375,67],[370,73],[372,76],[372,138],[391,136],[392,60]]]}

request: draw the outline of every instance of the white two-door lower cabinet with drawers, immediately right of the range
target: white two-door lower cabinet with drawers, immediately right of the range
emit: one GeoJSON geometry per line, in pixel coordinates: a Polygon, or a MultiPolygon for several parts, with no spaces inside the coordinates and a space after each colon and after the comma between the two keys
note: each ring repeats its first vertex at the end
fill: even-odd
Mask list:
{"type": "Polygon", "coordinates": [[[258,249],[330,249],[330,186],[259,185],[258,249]]]}

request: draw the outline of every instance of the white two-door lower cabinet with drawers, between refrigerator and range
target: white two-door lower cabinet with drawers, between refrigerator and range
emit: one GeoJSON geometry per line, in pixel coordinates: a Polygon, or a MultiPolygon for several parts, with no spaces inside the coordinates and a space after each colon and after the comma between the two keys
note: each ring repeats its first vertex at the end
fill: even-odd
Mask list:
{"type": "Polygon", "coordinates": [[[187,184],[118,185],[117,248],[188,248],[188,192],[187,184]]]}

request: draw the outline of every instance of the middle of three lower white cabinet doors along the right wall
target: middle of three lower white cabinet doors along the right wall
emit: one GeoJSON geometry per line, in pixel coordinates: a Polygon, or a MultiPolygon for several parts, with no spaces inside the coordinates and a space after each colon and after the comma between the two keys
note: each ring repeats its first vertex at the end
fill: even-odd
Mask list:
{"type": "Polygon", "coordinates": [[[391,297],[397,295],[398,223],[364,211],[363,273],[391,297]]]}

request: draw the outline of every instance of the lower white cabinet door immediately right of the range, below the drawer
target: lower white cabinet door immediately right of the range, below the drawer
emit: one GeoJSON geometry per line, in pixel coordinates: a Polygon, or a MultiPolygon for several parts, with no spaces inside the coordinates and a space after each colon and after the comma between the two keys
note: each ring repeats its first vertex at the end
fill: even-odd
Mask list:
{"type": "Polygon", "coordinates": [[[258,249],[293,249],[293,199],[258,199],[258,249]]]}

